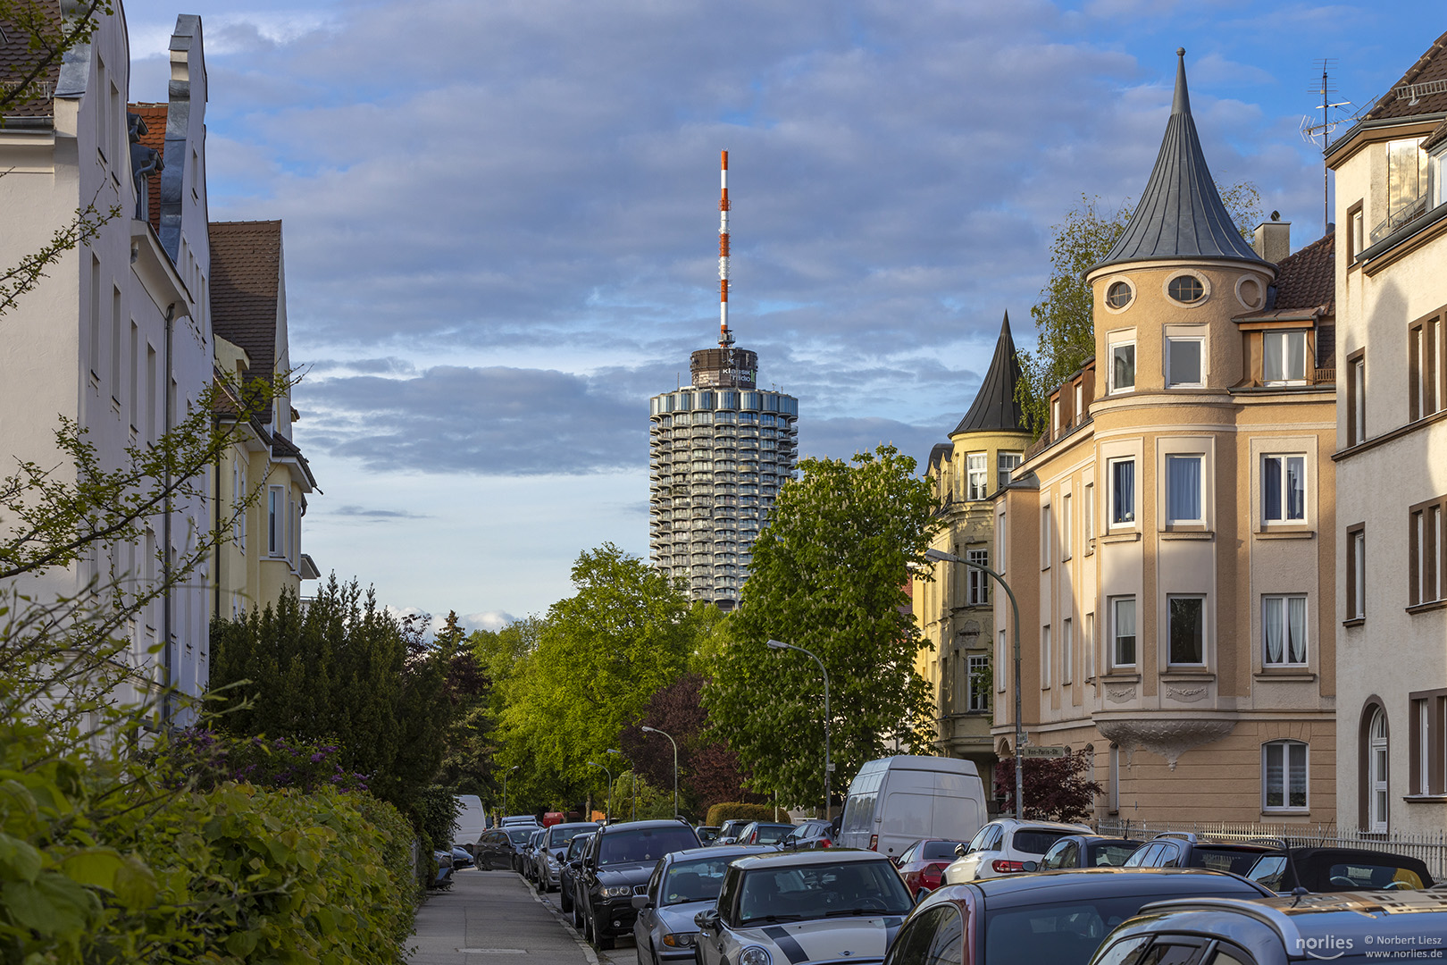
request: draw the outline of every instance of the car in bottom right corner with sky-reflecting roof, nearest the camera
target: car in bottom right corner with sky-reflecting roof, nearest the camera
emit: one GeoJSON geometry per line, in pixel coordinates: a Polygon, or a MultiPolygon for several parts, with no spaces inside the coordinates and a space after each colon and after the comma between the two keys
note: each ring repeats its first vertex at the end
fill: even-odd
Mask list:
{"type": "Polygon", "coordinates": [[[1092,962],[1289,965],[1440,959],[1447,894],[1338,891],[1256,901],[1159,901],[1101,943],[1092,962]]]}

